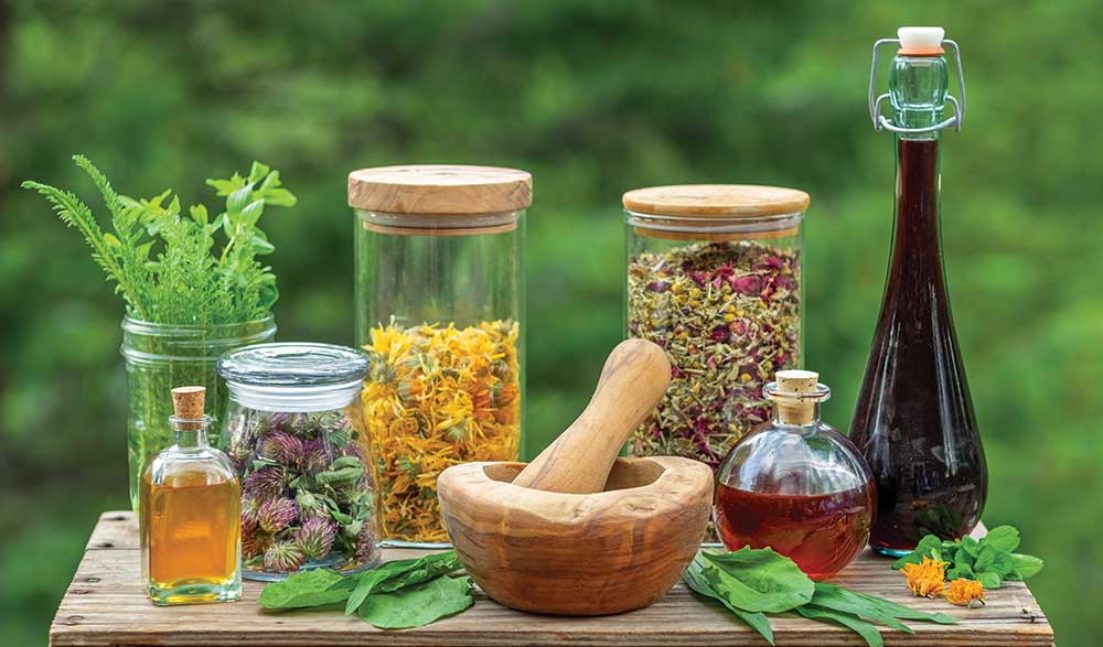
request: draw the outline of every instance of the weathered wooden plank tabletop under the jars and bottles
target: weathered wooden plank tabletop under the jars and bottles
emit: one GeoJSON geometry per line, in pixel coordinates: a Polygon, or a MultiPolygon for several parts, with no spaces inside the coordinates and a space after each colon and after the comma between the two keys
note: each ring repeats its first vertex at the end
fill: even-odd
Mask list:
{"type": "MultiPolygon", "coordinates": [[[[386,559],[418,551],[388,550],[386,559]]],[[[518,613],[479,594],[473,607],[427,627],[382,632],[339,610],[266,612],[261,584],[246,582],[242,602],[153,606],[139,576],[138,525],[131,513],[105,513],[50,627],[51,645],[765,645],[718,606],[678,584],[649,608],[617,616],[565,618],[518,613]]],[[[952,614],[956,625],[910,623],[914,635],[881,628],[886,645],[1051,646],[1053,630],[1030,591],[1011,582],[988,604],[965,610],[910,596],[903,578],[868,551],[835,580],[924,611],[952,614]]],[[[863,645],[848,630],[797,617],[771,619],[779,646],[863,645]]]]}

